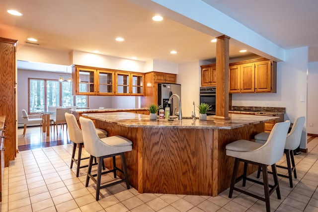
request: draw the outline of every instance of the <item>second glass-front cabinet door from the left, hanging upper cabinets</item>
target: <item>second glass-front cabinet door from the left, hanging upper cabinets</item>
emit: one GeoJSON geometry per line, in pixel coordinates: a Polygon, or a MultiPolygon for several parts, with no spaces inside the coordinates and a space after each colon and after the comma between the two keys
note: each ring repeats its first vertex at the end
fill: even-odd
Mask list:
{"type": "Polygon", "coordinates": [[[114,71],[101,71],[97,70],[97,79],[98,79],[98,95],[114,95],[114,81],[115,74],[114,71]]]}

